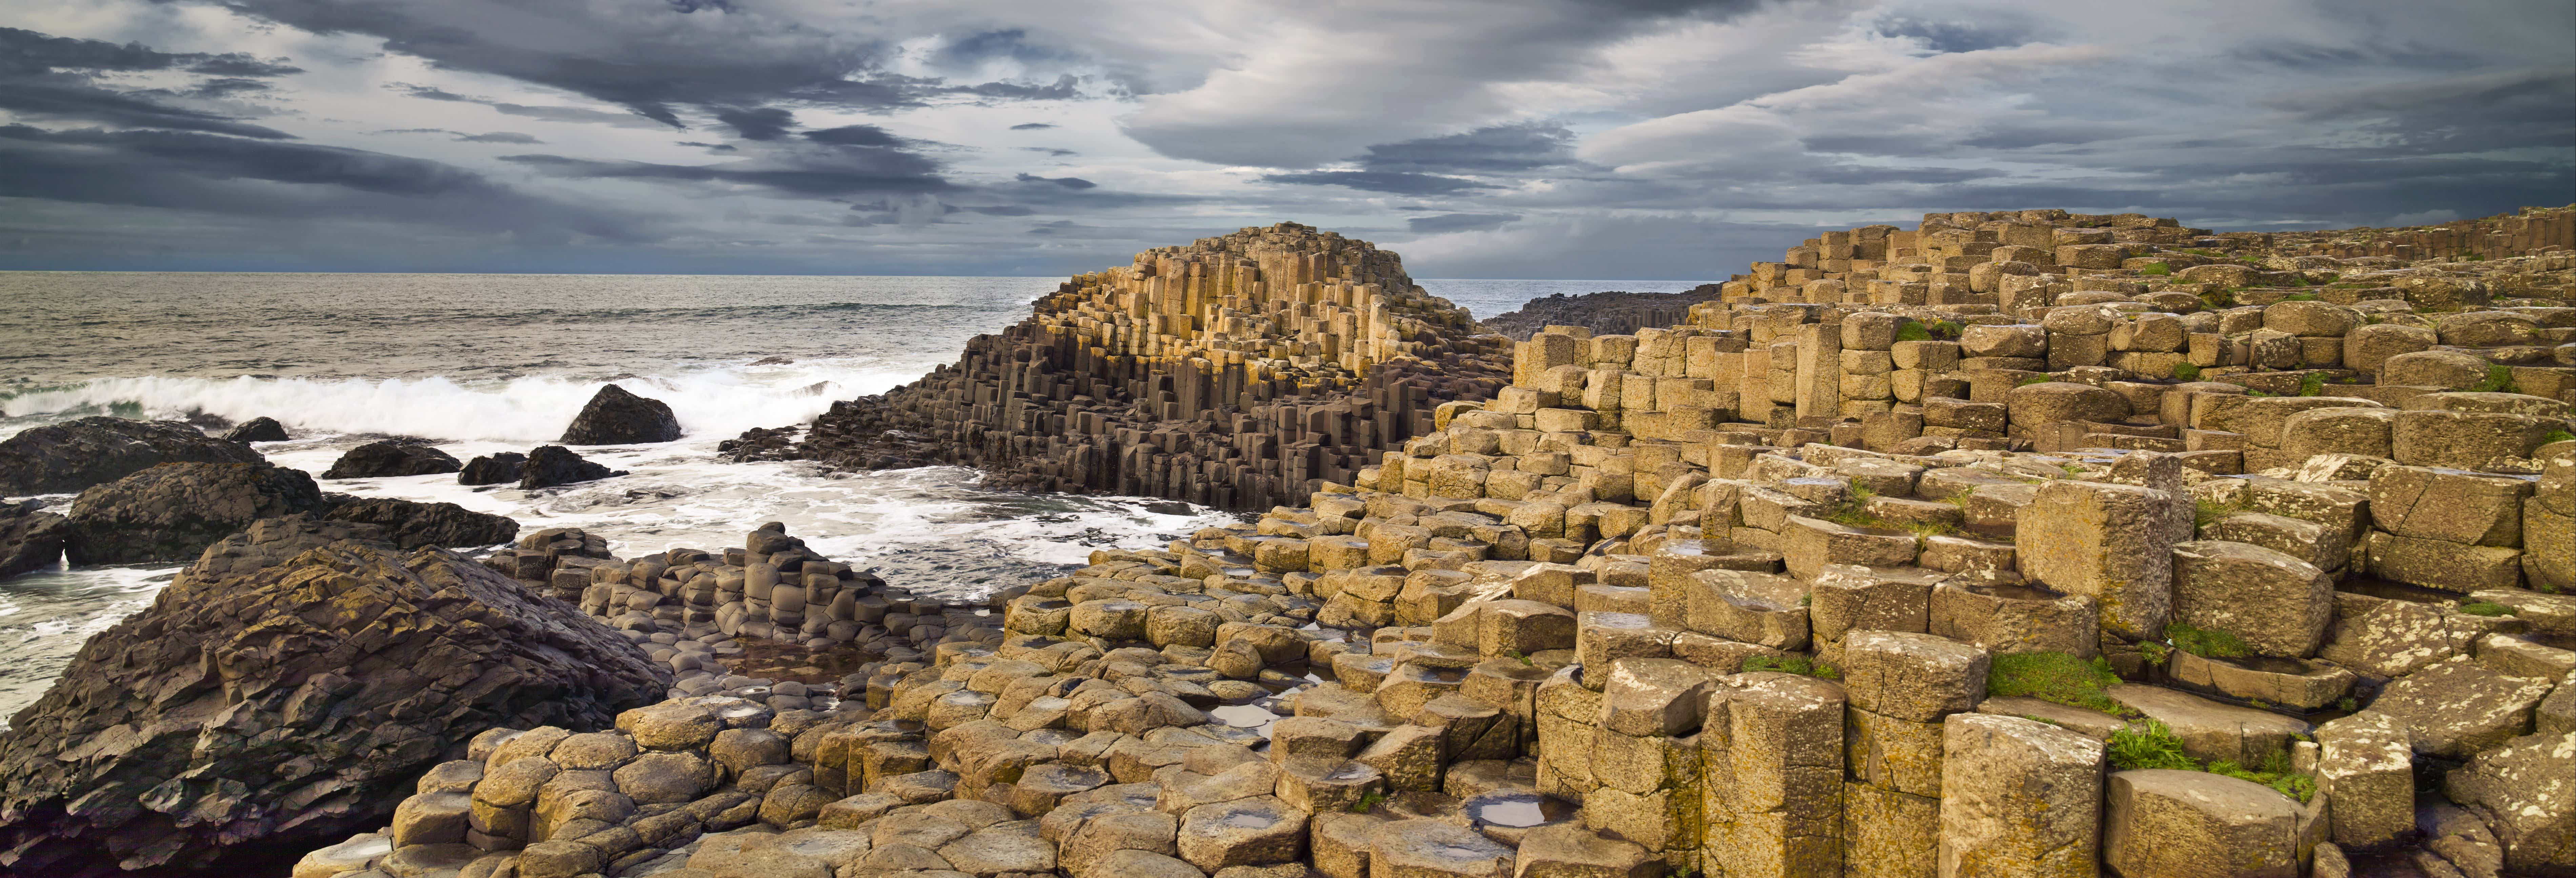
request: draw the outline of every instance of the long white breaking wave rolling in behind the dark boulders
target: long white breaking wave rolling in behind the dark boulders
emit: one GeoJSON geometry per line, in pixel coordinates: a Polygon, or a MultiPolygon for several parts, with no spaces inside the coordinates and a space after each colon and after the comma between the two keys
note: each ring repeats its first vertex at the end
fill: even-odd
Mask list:
{"type": "Polygon", "coordinates": [[[33,422],[131,412],[224,420],[276,417],[289,433],[420,435],[433,440],[551,443],[605,384],[662,399],[693,438],[732,438],[747,427],[814,420],[832,399],[884,394],[920,376],[886,360],[801,360],[788,366],[719,366],[672,376],[616,381],[526,376],[459,384],[430,378],[93,378],[0,399],[0,438],[33,422]]]}

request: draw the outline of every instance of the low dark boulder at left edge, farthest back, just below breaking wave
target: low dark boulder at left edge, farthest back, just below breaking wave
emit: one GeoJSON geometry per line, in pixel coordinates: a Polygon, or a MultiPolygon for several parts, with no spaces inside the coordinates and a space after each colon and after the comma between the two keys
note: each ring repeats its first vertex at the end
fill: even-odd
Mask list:
{"type": "Polygon", "coordinates": [[[0,494],[70,494],[155,463],[260,461],[268,458],[250,445],[211,438],[175,420],[82,417],[0,440],[0,494]]]}

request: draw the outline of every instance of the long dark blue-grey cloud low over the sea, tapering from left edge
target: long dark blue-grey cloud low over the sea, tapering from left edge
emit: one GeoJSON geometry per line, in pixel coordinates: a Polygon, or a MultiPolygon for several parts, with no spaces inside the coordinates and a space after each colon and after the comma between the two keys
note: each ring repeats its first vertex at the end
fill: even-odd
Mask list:
{"type": "Polygon", "coordinates": [[[531,239],[657,237],[649,221],[528,196],[456,165],[198,131],[0,126],[0,198],[425,221],[531,239]]]}

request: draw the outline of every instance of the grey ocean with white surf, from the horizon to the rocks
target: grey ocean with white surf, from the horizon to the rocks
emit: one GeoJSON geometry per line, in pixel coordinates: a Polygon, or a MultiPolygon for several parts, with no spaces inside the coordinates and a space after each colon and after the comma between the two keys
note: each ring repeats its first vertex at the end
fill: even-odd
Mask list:
{"type": "MultiPolygon", "coordinates": [[[[428,438],[469,461],[554,443],[613,381],[667,402],[685,430],[675,443],[582,448],[629,476],[538,492],[461,487],[456,476],[335,479],[322,489],[456,502],[510,515],[520,533],[585,528],[618,556],[739,546],[778,520],[896,587],[981,597],[1082,564],[1092,548],[1162,546],[1231,518],[1154,512],[1144,497],[989,492],[953,466],[827,474],[801,461],[724,463],[716,443],[920,378],[956,360],[969,337],[1028,317],[1059,281],[0,273],[0,438],[90,415],[276,417],[291,440],[258,451],[312,474],[392,435],[428,438]]],[[[1692,286],[1417,283],[1476,317],[1551,294],[1692,286]]],[[[0,716],[33,703],[82,641],[149,605],[175,572],[77,566],[0,579],[0,716]]]]}

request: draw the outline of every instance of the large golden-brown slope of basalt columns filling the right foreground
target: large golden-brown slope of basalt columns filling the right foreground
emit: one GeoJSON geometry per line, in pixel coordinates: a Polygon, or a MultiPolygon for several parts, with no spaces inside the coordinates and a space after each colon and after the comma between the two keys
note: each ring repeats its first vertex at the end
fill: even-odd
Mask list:
{"type": "MultiPolygon", "coordinates": [[[[2555,304],[2494,306],[2535,324],[2506,340],[2550,345],[2463,345],[2442,319],[2483,312],[2213,309],[2169,286],[2218,265],[2200,276],[2563,301],[2563,242],[2326,268],[2267,237],[2017,211],[1819,245],[1793,270],[2045,281],[2014,281],[2038,304],[1973,283],[1996,301],[1752,301],[1811,288],[1757,265],[1687,324],[1538,332],[1510,389],[1435,407],[1301,507],[1100,551],[999,592],[992,639],[842,677],[827,718],[773,708],[793,734],[757,762],[778,778],[757,806],[737,783],[696,798],[721,819],[582,824],[477,847],[466,873],[2576,868],[2561,366],[2506,366],[2512,386],[2324,368],[2324,340],[2375,350],[2354,332],[2398,314],[2434,322],[2421,350],[2555,358],[2555,304]],[[1978,270],[2038,265],[2020,227],[2079,250],[1978,270]],[[2105,245],[2120,260],[2081,250],[2105,245]],[[2228,260],[2156,273],[2120,265],[2130,245],[2228,260]],[[2223,355],[2257,332],[2303,360],[2223,355]],[[2151,373],[2202,350],[2200,381],[2151,373]]],[[[757,716],[732,682],[752,685],[662,711],[757,716]]],[[[410,850],[384,845],[330,865],[410,850]]]]}

